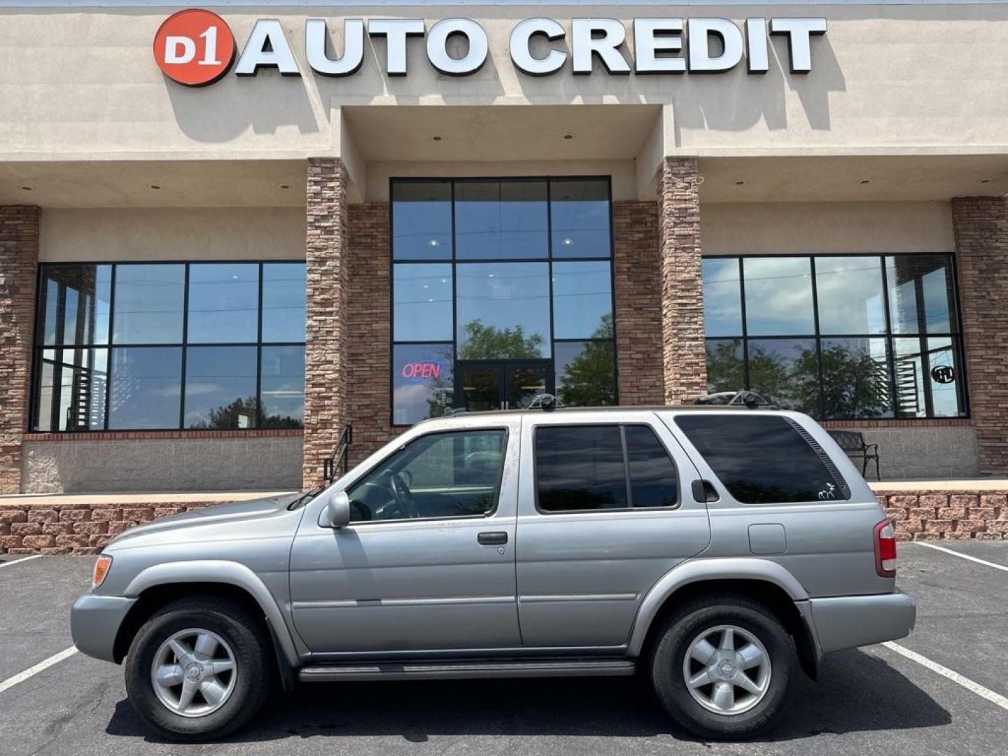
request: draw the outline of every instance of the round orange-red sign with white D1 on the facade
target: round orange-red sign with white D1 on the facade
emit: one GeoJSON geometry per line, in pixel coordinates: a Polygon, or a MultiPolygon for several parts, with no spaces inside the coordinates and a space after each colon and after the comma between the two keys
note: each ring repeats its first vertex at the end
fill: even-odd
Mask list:
{"type": "Polygon", "coordinates": [[[154,60],[168,79],[205,87],[221,79],[235,60],[235,35],[216,13],[186,8],[164,19],[154,35],[154,60]]]}

